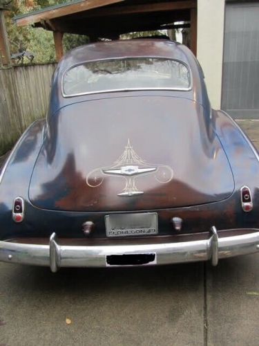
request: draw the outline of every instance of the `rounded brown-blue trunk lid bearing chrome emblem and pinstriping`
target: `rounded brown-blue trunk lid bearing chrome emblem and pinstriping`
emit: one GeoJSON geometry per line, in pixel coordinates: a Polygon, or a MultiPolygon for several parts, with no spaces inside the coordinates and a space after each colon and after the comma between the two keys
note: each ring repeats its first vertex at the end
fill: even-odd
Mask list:
{"type": "Polygon", "coordinates": [[[71,104],[52,116],[29,196],[50,210],[154,210],[220,201],[233,188],[199,104],[131,96],[71,104]]]}

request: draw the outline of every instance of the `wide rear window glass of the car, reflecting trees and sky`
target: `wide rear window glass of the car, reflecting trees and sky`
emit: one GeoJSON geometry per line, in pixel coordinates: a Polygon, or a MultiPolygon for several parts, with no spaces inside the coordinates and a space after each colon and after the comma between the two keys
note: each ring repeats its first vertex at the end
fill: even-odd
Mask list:
{"type": "Polygon", "coordinates": [[[190,86],[185,64],[153,57],[87,62],[69,69],[63,78],[65,96],[134,89],[188,90],[190,86]]]}

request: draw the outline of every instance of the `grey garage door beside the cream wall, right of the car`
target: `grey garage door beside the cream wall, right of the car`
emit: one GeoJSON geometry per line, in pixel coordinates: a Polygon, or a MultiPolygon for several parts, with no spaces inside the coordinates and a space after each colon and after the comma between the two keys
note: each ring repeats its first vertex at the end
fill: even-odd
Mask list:
{"type": "Polygon", "coordinates": [[[259,1],[226,4],[222,109],[259,118],[259,1]]]}

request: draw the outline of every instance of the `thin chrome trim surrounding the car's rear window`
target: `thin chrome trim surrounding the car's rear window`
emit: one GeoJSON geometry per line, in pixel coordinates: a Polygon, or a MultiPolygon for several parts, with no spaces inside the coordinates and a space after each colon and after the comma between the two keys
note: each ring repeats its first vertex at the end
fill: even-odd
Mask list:
{"type": "Polygon", "coordinates": [[[108,58],[104,58],[104,59],[95,59],[95,60],[86,60],[84,62],[77,62],[77,64],[74,64],[70,67],[68,67],[68,69],[66,69],[66,71],[64,71],[64,73],[62,74],[61,77],[61,95],[63,98],[75,98],[77,96],[83,96],[83,95],[93,95],[93,94],[99,94],[99,93],[117,93],[117,92],[126,92],[126,91],[191,91],[191,89],[193,89],[193,75],[191,73],[191,69],[189,67],[188,64],[186,64],[186,62],[183,62],[182,60],[179,59],[172,59],[169,57],[162,57],[162,56],[124,56],[124,57],[108,57],[108,58]],[[91,62],[108,62],[108,61],[113,61],[113,60],[122,60],[122,59],[164,59],[164,60],[173,60],[175,62],[180,62],[180,64],[183,64],[186,69],[189,72],[189,77],[190,77],[190,83],[189,83],[189,87],[188,88],[124,88],[124,89],[107,89],[107,90],[100,90],[100,91],[88,91],[88,92],[83,92],[83,93],[74,93],[73,95],[67,95],[64,92],[64,76],[66,75],[66,73],[68,73],[68,71],[70,71],[71,69],[74,69],[77,66],[80,65],[84,65],[87,63],[91,63],[91,62]]]}

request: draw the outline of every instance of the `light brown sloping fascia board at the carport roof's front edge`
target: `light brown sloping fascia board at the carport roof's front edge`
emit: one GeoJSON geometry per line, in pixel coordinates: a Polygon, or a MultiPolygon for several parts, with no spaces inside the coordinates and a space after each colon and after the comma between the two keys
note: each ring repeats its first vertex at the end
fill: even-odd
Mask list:
{"type": "Polygon", "coordinates": [[[58,17],[64,17],[66,15],[72,15],[77,12],[91,10],[102,6],[111,5],[113,3],[119,3],[124,0],[85,0],[78,3],[68,4],[55,8],[49,8],[45,11],[39,11],[32,15],[26,15],[21,18],[14,19],[17,26],[32,25],[42,20],[48,20],[58,17]]]}

